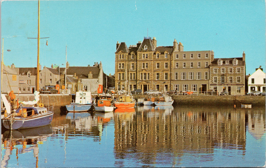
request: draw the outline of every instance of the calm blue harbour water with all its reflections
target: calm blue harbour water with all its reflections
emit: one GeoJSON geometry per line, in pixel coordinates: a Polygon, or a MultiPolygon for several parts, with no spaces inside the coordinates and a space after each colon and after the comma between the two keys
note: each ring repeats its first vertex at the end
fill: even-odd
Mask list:
{"type": "Polygon", "coordinates": [[[265,107],[56,112],[51,125],[1,134],[2,167],[265,165],[265,107]]]}

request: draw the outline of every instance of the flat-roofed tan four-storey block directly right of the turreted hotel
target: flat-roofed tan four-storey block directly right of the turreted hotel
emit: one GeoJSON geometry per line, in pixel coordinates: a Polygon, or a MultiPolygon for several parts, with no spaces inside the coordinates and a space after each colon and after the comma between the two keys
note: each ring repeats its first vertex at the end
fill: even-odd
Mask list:
{"type": "Polygon", "coordinates": [[[211,51],[184,51],[183,44],[176,40],[173,46],[178,50],[173,52],[173,73],[171,89],[206,92],[209,88],[209,65],[214,59],[211,51]]]}

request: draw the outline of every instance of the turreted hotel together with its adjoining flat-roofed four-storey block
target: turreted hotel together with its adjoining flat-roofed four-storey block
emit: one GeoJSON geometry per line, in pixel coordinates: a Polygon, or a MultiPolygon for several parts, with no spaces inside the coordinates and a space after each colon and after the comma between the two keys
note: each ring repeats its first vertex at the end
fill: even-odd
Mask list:
{"type": "Polygon", "coordinates": [[[213,51],[184,51],[183,44],[157,46],[155,37],[130,45],[116,44],[115,83],[117,90],[148,89],[168,91],[209,88],[209,64],[213,51]]]}

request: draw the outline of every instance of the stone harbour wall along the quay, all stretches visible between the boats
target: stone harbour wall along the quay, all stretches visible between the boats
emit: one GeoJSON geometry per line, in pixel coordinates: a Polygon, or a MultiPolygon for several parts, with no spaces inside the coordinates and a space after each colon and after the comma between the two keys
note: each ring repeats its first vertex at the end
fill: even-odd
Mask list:
{"type": "MultiPolygon", "coordinates": [[[[34,94],[20,94],[19,101],[33,101],[34,94]]],[[[147,95],[133,95],[135,99],[144,98],[147,95]]],[[[209,105],[209,106],[241,106],[241,104],[252,104],[252,106],[265,107],[265,96],[212,96],[212,95],[174,95],[173,105],[209,105]]],[[[40,102],[46,106],[54,106],[55,112],[66,112],[66,105],[71,103],[68,94],[40,94],[40,102]]]]}

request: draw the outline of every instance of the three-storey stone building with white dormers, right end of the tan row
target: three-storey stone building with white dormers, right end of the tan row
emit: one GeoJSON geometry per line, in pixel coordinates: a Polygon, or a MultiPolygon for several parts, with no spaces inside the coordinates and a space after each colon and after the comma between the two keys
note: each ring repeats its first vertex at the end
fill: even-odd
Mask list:
{"type": "Polygon", "coordinates": [[[245,52],[242,57],[216,58],[210,64],[210,89],[229,94],[245,94],[245,52]]]}

